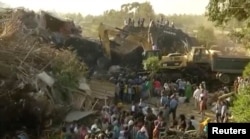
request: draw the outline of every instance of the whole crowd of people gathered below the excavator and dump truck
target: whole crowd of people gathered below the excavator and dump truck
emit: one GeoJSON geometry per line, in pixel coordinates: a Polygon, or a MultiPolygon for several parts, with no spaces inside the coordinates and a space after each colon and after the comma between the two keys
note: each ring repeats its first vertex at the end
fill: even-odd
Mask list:
{"type": "MultiPolygon", "coordinates": [[[[116,105],[104,106],[101,117],[89,128],[70,126],[70,132],[63,128],[64,139],[70,133],[77,135],[71,136],[71,139],[160,139],[172,130],[203,132],[211,120],[205,118],[208,99],[205,82],[193,86],[185,79],[174,82],[138,76],[128,79],[118,77],[115,83],[116,105]],[[144,102],[152,96],[158,100],[156,108],[144,102]],[[189,118],[185,114],[179,114],[178,117],[176,115],[178,106],[181,103],[189,103],[192,98],[195,100],[194,108],[201,114],[201,121],[206,123],[202,128],[200,120],[196,120],[193,115],[189,118]]],[[[223,107],[224,105],[221,106],[221,114],[216,115],[218,122],[223,122],[226,110],[223,107]]],[[[218,105],[218,111],[219,108],[218,105]]]]}

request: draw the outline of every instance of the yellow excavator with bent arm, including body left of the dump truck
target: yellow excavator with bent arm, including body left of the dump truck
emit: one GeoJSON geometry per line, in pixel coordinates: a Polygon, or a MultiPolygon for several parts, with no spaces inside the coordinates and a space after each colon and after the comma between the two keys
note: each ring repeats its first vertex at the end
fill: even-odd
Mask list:
{"type": "MultiPolygon", "coordinates": [[[[160,62],[162,63],[161,69],[177,69],[180,67],[184,67],[185,63],[184,56],[180,53],[169,53],[168,55],[164,55],[161,50],[152,50],[152,44],[147,38],[148,35],[142,36],[138,35],[138,33],[133,33],[129,31],[125,31],[123,29],[117,27],[111,27],[109,25],[105,25],[101,23],[98,28],[100,41],[105,48],[107,57],[111,59],[111,39],[110,36],[115,36],[116,43],[120,46],[116,48],[116,51],[119,51],[120,54],[131,52],[138,46],[142,46],[144,52],[142,53],[142,63],[150,57],[158,57],[160,62]],[[117,41],[118,40],[118,41],[117,41]],[[126,42],[131,42],[130,44],[126,44],[126,42]],[[131,45],[134,45],[131,47],[131,45]],[[119,50],[120,49],[120,50],[119,50]]],[[[112,51],[115,51],[115,48],[112,48],[112,51]]],[[[131,61],[132,62],[132,61],[131,61]]],[[[146,70],[146,69],[144,69],[146,70]]]]}

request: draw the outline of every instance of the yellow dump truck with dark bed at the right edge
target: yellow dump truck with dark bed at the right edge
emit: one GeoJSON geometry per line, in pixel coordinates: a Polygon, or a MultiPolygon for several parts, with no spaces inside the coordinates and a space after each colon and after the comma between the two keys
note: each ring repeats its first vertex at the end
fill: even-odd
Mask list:
{"type": "Polygon", "coordinates": [[[209,79],[218,79],[224,84],[232,83],[236,76],[242,74],[245,66],[250,62],[250,57],[225,56],[221,51],[205,47],[192,47],[185,57],[186,68],[202,69],[209,79]]]}

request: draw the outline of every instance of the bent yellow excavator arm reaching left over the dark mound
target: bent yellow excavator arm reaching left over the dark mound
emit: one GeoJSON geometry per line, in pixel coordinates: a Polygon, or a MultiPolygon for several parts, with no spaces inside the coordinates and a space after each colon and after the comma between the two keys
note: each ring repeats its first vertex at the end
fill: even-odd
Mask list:
{"type": "MultiPolygon", "coordinates": [[[[141,46],[144,51],[144,53],[141,52],[140,54],[137,54],[140,55],[140,59],[152,56],[157,56],[157,57],[160,56],[159,51],[152,50],[152,46],[148,42],[147,37],[142,37],[117,27],[111,27],[109,25],[105,25],[103,23],[100,23],[98,27],[98,32],[101,44],[105,49],[107,57],[110,59],[112,59],[111,51],[115,51],[119,55],[127,55],[131,53],[138,46],[141,46]],[[116,37],[116,40],[118,41],[116,41],[115,43],[118,43],[119,46],[116,47],[111,46],[110,36],[116,37]],[[142,54],[144,54],[144,56],[142,56],[142,54]]],[[[133,59],[133,61],[131,62],[134,62],[136,60],[138,59],[133,59]]]]}

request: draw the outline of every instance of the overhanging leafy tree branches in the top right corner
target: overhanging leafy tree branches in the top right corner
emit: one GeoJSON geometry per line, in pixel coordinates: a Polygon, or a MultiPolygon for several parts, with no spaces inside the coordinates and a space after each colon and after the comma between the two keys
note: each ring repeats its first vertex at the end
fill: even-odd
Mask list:
{"type": "Polygon", "coordinates": [[[249,9],[248,0],[210,0],[206,15],[216,25],[230,28],[232,36],[238,37],[241,43],[249,45],[249,9]]]}

